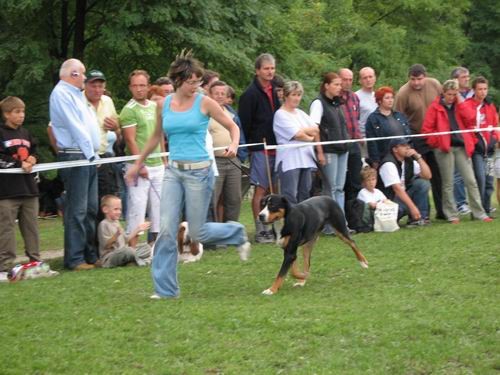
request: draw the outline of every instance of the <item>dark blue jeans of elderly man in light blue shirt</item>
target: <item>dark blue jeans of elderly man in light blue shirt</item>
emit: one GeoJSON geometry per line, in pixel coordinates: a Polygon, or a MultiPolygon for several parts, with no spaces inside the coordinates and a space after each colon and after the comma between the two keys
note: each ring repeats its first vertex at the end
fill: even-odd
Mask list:
{"type": "MultiPolygon", "coordinates": [[[[83,154],[59,153],[58,161],[85,160],[83,154]]],[[[64,266],[97,261],[97,168],[63,168],[59,171],[66,190],[64,200],[64,266]]]]}

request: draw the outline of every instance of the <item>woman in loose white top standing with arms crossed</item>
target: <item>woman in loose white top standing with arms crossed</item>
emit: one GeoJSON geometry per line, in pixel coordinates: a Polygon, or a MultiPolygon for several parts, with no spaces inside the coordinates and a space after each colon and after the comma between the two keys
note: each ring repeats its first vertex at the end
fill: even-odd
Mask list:
{"type": "MultiPolygon", "coordinates": [[[[284,102],[274,115],[273,130],[278,145],[304,145],[319,139],[319,129],[299,104],[304,89],[297,81],[288,81],[283,88],[284,102]]],[[[316,168],[313,146],[278,147],[276,171],[281,194],[296,204],[309,198],[312,170],[316,168]]]]}

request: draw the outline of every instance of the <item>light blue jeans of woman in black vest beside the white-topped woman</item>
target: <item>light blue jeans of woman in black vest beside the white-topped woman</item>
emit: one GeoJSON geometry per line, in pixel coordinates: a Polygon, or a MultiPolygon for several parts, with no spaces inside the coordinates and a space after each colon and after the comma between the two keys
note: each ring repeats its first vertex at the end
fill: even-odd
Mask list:
{"type": "Polygon", "coordinates": [[[348,152],[343,154],[326,153],[326,165],[321,168],[325,177],[323,179],[323,194],[331,196],[342,208],[342,211],[344,211],[344,185],[348,157],[348,152]]]}

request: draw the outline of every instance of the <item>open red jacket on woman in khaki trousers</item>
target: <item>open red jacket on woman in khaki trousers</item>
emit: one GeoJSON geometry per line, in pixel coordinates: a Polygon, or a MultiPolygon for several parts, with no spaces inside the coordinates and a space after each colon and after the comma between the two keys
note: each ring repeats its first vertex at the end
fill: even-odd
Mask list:
{"type": "MultiPolygon", "coordinates": [[[[466,130],[473,128],[461,116],[463,103],[455,102],[455,118],[457,120],[458,128],[466,130]],[[466,125],[468,124],[468,125],[466,125]]],[[[436,97],[431,103],[427,112],[425,113],[424,122],[422,124],[422,134],[436,133],[436,132],[449,132],[450,121],[448,120],[448,113],[441,104],[441,96],[436,97]]],[[[474,152],[476,139],[473,133],[462,133],[464,140],[465,152],[470,157],[474,152]]],[[[443,152],[449,152],[451,148],[451,134],[433,135],[426,137],[426,142],[431,148],[439,148],[443,152]]]]}

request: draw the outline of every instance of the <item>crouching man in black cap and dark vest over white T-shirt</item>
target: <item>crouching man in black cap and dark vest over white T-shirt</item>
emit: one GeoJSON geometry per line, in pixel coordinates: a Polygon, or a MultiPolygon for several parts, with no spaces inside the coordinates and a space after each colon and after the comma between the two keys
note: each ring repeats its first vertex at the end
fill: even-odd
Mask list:
{"type": "Polygon", "coordinates": [[[398,220],[408,215],[408,225],[429,223],[429,180],[431,170],[406,138],[390,141],[391,152],[382,159],[379,169],[382,191],[399,204],[398,220]]]}

